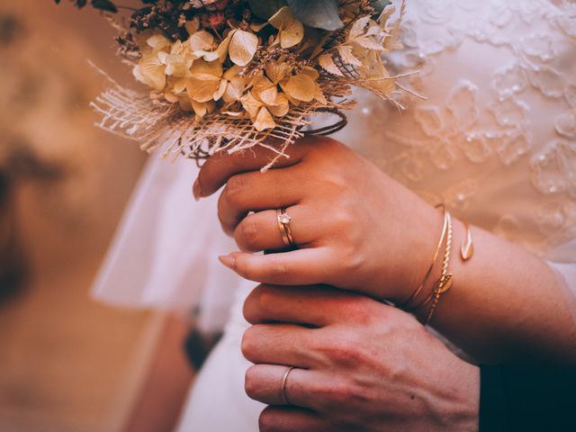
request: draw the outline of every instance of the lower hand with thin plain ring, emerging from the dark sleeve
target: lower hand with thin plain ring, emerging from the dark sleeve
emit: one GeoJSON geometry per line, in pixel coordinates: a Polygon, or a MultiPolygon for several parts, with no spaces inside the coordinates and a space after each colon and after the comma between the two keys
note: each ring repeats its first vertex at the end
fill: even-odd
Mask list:
{"type": "Polygon", "coordinates": [[[246,391],[271,405],[261,431],[478,428],[478,368],[402,311],[327,287],[260,285],[244,314],[242,351],[257,364],[246,391]]]}

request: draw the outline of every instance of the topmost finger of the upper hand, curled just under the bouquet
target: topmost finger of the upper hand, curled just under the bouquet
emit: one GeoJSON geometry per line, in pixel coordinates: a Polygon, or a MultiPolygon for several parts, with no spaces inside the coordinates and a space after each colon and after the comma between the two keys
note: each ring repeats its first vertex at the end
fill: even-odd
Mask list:
{"type": "MultiPolygon", "coordinates": [[[[315,139],[318,138],[305,137],[288,146],[284,150],[287,157],[280,157],[275,167],[298,164],[306,156],[315,139]]],[[[226,184],[232,175],[256,171],[269,164],[277,156],[278,153],[274,150],[264,147],[238,151],[231,155],[226,152],[216,153],[202,166],[193,186],[194,196],[197,198],[210,196],[226,184]]]]}

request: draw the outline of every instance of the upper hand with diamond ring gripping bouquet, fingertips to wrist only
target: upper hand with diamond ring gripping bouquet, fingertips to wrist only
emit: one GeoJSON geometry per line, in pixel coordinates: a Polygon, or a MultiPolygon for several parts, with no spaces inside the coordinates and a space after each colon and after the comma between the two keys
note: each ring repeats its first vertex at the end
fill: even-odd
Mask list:
{"type": "Polygon", "coordinates": [[[376,298],[406,300],[422,280],[442,216],[354,151],[333,139],[306,138],[276,169],[273,155],[211,157],[194,184],[196,197],[220,195],[219,217],[245,253],[222,262],[266,284],[331,284],[376,298]],[[275,209],[286,208],[299,250],[283,249],[275,209]],[[257,211],[248,214],[250,211],[257,211]]]}

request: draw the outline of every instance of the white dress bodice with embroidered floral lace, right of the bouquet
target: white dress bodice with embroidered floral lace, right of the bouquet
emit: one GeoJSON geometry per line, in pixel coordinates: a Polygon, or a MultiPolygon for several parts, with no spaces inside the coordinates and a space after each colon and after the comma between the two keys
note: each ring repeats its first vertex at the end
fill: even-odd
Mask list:
{"type": "Polygon", "coordinates": [[[532,250],[575,238],[576,2],[411,0],[405,23],[391,67],[419,70],[429,100],[404,94],[399,113],[367,99],[386,146],[359,150],[472,220],[491,193],[503,205],[485,228],[532,250]]]}

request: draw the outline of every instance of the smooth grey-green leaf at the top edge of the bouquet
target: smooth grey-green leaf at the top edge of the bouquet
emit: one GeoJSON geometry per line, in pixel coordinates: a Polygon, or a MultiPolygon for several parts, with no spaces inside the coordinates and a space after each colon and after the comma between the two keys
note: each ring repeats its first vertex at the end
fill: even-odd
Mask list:
{"type": "Polygon", "coordinates": [[[309,27],[335,31],[344,23],[340,20],[338,0],[286,0],[294,16],[309,27]]]}

